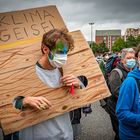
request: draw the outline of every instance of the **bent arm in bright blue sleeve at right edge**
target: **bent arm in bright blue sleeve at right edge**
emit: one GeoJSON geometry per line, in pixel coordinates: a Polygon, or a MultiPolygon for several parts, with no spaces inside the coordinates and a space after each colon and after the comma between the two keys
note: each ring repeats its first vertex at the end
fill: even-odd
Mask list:
{"type": "Polygon", "coordinates": [[[126,125],[140,126],[140,114],[133,112],[136,98],[136,81],[134,78],[127,78],[122,84],[116,106],[118,120],[126,125]]]}

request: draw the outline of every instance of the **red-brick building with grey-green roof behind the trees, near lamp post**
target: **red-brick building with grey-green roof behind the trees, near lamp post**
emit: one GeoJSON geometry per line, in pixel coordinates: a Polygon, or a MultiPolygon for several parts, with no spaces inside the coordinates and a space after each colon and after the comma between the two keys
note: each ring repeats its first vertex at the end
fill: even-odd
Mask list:
{"type": "Polygon", "coordinates": [[[96,44],[105,43],[106,47],[111,51],[116,39],[121,37],[121,30],[96,30],[96,44]]]}

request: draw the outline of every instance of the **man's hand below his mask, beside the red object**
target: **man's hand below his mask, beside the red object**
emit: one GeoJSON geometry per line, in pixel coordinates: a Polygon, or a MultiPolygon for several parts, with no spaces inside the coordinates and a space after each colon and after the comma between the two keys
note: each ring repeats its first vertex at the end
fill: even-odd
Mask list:
{"type": "Polygon", "coordinates": [[[73,84],[75,87],[80,88],[79,79],[72,74],[64,75],[60,80],[65,86],[72,86],[73,84]]]}

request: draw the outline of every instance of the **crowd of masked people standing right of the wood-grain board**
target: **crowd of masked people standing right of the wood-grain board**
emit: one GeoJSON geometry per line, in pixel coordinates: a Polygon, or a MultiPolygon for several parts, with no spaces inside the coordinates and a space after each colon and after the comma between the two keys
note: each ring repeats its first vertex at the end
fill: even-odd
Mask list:
{"type": "Polygon", "coordinates": [[[120,58],[120,61],[107,75],[107,65],[111,62],[109,59],[113,59],[113,55],[116,56],[106,53],[102,60],[97,59],[111,92],[111,96],[105,99],[104,105],[101,102],[101,106],[110,116],[115,132],[114,140],[139,140],[140,45],[136,48],[122,49],[121,55],[119,53],[115,57],[120,58]]]}

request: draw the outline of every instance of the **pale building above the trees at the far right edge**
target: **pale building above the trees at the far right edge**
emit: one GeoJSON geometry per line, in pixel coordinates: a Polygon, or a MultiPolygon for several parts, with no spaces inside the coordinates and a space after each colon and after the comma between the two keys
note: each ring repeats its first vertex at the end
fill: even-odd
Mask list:
{"type": "Polygon", "coordinates": [[[124,34],[124,40],[126,41],[130,35],[137,38],[140,35],[140,28],[127,28],[124,34]]]}

